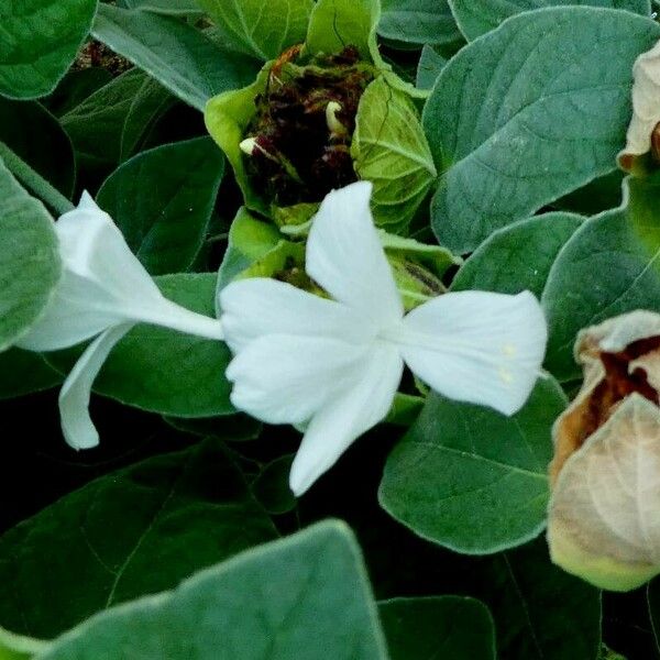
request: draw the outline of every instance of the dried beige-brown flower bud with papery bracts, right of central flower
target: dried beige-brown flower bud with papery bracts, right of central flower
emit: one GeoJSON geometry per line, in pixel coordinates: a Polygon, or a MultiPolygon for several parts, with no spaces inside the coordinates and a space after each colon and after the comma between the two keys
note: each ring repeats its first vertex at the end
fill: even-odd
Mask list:
{"type": "Polygon", "coordinates": [[[660,573],[660,315],[583,330],[584,384],[553,428],[552,560],[601,588],[660,573]]]}

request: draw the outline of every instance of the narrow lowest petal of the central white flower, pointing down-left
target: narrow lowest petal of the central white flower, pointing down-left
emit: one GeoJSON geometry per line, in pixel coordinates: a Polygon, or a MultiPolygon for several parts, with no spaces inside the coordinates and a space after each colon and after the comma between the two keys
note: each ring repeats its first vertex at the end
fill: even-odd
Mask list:
{"type": "Polygon", "coordinates": [[[387,416],[403,369],[395,348],[376,344],[362,361],[352,387],[342,389],[315,415],[289,475],[297,496],[327,472],[359,436],[387,416]]]}

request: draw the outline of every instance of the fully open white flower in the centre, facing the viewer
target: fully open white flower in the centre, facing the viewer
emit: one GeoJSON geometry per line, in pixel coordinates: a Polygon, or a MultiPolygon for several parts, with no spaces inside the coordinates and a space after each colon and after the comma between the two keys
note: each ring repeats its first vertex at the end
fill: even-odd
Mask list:
{"type": "Polygon", "coordinates": [[[272,279],[220,293],[234,406],[306,427],[290,487],[304,493],[387,415],[404,363],[440,394],[505,415],[527,399],[547,328],[536,298],[446,294],[404,316],[371,217],[372,186],[330,193],[307,243],[306,270],[332,300],[272,279]]]}

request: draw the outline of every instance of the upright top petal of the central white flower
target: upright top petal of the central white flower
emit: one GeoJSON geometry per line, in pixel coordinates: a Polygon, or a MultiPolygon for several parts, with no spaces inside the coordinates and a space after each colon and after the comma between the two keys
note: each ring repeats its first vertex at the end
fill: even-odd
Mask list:
{"type": "Polygon", "coordinates": [[[404,309],[369,208],[372,185],[351,184],[321,202],[307,242],[306,271],[333,298],[374,323],[404,309]]]}

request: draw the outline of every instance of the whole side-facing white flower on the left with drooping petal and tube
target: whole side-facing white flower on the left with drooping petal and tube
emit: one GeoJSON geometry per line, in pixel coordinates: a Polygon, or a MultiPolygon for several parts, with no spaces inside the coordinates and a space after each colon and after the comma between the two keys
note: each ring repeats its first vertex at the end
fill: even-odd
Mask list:
{"type": "Polygon", "coordinates": [[[98,336],[59,394],[62,430],[76,449],[95,447],[89,417],[91,384],[119,340],[139,322],[222,339],[217,319],[167,300],[123,235],[85,193],[78,208],[55,223],[64,274],[45,315],[19,342],[31,351],[56,351],[98,336]]]}

